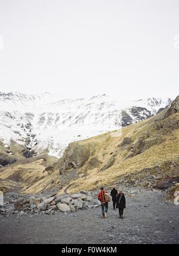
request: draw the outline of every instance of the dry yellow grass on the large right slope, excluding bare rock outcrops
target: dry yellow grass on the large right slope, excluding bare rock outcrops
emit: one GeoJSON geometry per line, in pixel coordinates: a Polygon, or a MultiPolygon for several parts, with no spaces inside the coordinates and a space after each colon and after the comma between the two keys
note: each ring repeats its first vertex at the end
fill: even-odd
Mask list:
{"type": "MultiPolygon", "coordinates": [[[[153,168],[166,161],[175,161],[179,156],[179,114],[163,119],[166,111],[138,124],[129,125],[119,131],[108,132],[97,137],[79,141],[78,144],[87,147],[95,145],[90,157],[82,167],[70,166],[69,149],[60,159],[60,170],[63,170],[64,188],[60,191],[76,192],[80,189],[94,189],[100,185],[110,185],[127,173],[137,173],[144,168],[153,168]],[[120,146],[125,137],[132,143],[120,146]],[[91,161],[95,159],[95,161],[91,161]],[[92,166],[91,162],[97,165],[92,166]],[[72,175],[75,173],[75,177],[72,175]],[[66,180],[70,175],[73,179],[66,180]]],[[[178,161],[178,160],[177,160],[178,161]]],[[[168,171],[168,170],[163,170],[168,171]]]]}

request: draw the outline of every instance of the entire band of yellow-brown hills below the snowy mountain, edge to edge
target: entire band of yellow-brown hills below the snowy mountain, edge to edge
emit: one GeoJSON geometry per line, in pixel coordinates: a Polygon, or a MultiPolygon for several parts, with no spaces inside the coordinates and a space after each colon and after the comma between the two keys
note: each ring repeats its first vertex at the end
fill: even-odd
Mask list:
{"type": "Polygon", "coordinates": [[[23,147],[3,147],[21,159],[0,168],[0,188],[26,194],[74,193],[114,183],[168,188],[179,181],[177,106],[178,97],[170,108],[137,124],[72,142],[60,159],[47,154],[26,158],[23,147]]]}

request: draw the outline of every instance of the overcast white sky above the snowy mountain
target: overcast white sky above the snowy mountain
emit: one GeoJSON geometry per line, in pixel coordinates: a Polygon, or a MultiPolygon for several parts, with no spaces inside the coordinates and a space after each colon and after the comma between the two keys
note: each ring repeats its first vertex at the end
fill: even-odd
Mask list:
{"type": "Polygon", "coordinates": [[[0,0],[0,35],[0,91],[178,94],[178,0],[0,0]]]}

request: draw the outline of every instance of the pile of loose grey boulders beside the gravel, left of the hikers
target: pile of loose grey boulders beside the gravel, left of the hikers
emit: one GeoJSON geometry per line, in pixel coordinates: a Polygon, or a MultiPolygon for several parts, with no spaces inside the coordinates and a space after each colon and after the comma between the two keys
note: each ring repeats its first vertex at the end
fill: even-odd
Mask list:
{"type": "Polygon", "coordinates": [[[87,191],[78,194],[51,195],[43,197],[40,195],[11,195],[0,206],[0,214],[4,216],[33,214],[55,214],[60,212],[76,212],[81,209],[89,209],[100,206],[100,202],[87,191]]]}

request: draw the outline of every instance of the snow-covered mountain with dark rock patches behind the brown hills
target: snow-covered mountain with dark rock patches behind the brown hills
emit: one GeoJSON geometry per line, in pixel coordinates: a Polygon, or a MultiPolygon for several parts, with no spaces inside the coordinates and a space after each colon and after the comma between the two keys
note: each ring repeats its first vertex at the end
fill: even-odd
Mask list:
{"type": "Polygon", "coordinates": [[[26,95],[0,92],[0,140],[24,144],[29,152],[60,156],[72,141],[134,124],[171,104],[148,98],[121,103],[107,95],[65,99],[45,92],[26,95]]]}

